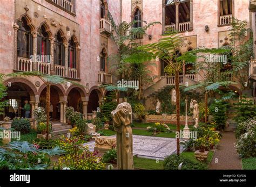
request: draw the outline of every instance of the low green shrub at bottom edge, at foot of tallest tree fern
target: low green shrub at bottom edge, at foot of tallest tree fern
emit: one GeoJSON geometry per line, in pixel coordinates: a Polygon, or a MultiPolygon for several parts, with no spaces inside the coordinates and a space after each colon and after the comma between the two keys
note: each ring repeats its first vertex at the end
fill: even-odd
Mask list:
{"type": "Polygon", "coordinates": [[[179,167],[179,164],[183,163],[181,166],[182,170],[186,169],[197,169],[197,170],[203,170],[207,169],[206,164],[201,162],[193,162],[189,159],[185,159],[178,155],[170,155],[165,158],[164,160],[164,169],[166,170],[177,170],[179,167]]]}

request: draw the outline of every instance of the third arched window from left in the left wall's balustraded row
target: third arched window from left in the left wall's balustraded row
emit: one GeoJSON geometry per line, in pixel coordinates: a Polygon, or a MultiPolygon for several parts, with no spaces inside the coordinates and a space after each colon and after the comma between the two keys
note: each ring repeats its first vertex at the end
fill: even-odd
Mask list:
{"type": "Polygon", "coordinates": [[[65,66],[65,47],[63,44],[63,39],[58,32],[55,35],[55,42],[54,42],[54,63],[60,66],[65,66]]]}

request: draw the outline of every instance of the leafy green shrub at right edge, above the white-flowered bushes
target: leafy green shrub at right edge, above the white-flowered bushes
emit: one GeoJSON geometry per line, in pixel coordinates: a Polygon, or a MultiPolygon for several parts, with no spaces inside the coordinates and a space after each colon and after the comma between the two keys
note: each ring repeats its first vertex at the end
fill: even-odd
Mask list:
{"type": "Polygon", "coordinates": [[[234,118],[237,123],[245,121],[247,119],[256,116],[256,106],[253,104],[253,100],[247,100],[245,96],[242,96],[238,103],[235,103],[235,113],[237,116],[234,118]]]}

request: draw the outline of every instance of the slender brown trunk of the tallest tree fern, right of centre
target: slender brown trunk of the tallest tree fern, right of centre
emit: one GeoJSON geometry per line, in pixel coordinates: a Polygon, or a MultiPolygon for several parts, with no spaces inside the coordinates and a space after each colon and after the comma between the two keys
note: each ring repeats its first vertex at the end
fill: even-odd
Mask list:
{"type": "MultiPolygon", "coordinates": [[[[176,91],[177,132],[180,133],[180,91],[179,91],[179,72],[178,71],[175,72],[175,91],[176,91]]],[[[177,155],[178,156],[179,156],[179,152],[180,152],[180,149],[179,149],[180,135],[177,138],[177,155]]]]}

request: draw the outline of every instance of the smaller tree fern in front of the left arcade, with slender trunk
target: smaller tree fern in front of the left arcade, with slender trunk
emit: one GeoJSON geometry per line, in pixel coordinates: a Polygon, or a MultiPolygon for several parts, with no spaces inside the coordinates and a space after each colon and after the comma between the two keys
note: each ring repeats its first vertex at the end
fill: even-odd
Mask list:
{"type": "Polygon", "coordinates": [[[19,77],[19,76],[26,76],[26,77],[32,77],[36,76],[40,78],[44,84],[46,85],[46,140],[49,139],[49,122],[50,122],[50,93],[51,93],[51,84],[65,84],[65,83],[72,83],[75,85],[78,85],[80,87],[83,87],[82,85],[68,81],[64,77],[60,77],[58,75],[48,75],[48,74],[42,74],[39,71],[24,71],[19,73],[11,73],[6,75],[8,77],[19,77]]]}

